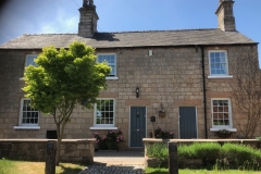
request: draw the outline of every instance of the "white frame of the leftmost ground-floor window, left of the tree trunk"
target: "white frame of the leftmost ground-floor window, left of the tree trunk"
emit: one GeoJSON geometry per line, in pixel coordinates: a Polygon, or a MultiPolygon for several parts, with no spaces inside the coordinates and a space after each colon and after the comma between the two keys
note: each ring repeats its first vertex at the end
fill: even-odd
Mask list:
{"type": "Polygon", "coordinates": [[[24,101],[25,100],[29,100],[28,98],[22,98],[21,99],[21,102],[20,102],[20,120],[18,120],[18,126],[14,126],[15,129],[40,129],[40,126],[39,126],[39,119],[40,119],[40,112],[39,111],[34,111],[38,114],[38,121],[36,124],[26,124],[26,123],[23,123],[23,113],[24,113],[24,101]]]}

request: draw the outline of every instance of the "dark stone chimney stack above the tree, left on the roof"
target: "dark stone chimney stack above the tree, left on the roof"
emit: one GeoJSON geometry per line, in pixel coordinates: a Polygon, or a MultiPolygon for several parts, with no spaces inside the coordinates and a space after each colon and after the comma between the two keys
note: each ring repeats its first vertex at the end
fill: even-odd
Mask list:
{"type": "Polygon", "coordinates": [[[97,33],[97,21],[99,16],[96,12],[94,0],[84,0],[79,11],[78,36],[91,37],[97,33]]]}

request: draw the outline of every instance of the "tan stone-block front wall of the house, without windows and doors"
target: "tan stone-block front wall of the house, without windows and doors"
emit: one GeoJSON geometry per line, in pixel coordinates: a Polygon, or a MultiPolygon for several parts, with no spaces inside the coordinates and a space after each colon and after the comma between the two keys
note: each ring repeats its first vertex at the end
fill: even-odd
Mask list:
{"type": "MultiPolygon", "coordinates": [[[[231,98],[226,87],[229,78],[208,78],[208,50],[229,50],[233,46],[206,47],[204,67],[207,85],[207,122],[208,138],[217,138],[209,128],[211,122],[211,98],[231,98]]],[[[37,50],[0,50],[0,138],[46,138],[46,130],[55,129],[52,117],[40,115],[39,130],[14,129],[18,125],[20,100],[24,92],[22,87],[25,54],[37,50]]],[[[156,126],[169,129],[178,138],[178,107],[197,108],[198,138],[204,138],[203,89],[201,51],[196,47],[175,48],[134,48],[134,49],[97,49],[98,53],[116,53],[117,77],[108,80],[108,89],[101,91],[101,98],[115,98],[115,126],[123,132],[128,147],[130,107],[146,107],[147,137],[152,129],[150,116],[156,115],[156,126]],[[148,51],[152,50],[150,57],[148,51]],[[139,98],[136,98],[139,87],[139,98]],[[166,116],[159,117],[161,104],[166,116]]],[[[228,61],[229,51],[228,51],[228,61]]],[[[233,75],[233,72],[229,72],[233,75]]],[[[233,100],[232,100],[233,105],[233,100]]],[[[234,110],[235,105],[233,105],[234,110]]],[[[240,116],[240,114],[237,114],[240,116]]],[[[67,123],[64,138],[90,138],[95,132],[105,135],[107,130],[90,130],[94,126],[94,111],[78,105],[67,123]]],[[[235,126],[236,128],[236,126],[235,126]]],[[[237,134],[233,134],[236,137],[237,134]]]]}

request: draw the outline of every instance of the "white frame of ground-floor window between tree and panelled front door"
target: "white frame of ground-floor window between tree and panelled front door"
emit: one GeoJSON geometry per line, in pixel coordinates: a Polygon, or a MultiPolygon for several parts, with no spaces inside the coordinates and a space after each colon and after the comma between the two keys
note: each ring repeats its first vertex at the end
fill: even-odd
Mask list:
{"type": "Polygon", "coordinates": [[[90,129],[117,129],[117,127],[115,127],[115,99],[114,98],[98,98],[97,100],[113,100],[113,123],[112,124],[97,124],[97,103],[95,104],[94,108],[94,126],[90,127],[90,129]]]}

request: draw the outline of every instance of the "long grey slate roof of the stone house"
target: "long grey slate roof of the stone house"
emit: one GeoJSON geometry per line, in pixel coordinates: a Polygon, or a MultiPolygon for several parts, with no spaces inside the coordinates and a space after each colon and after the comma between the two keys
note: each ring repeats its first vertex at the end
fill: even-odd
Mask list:
{"type": "Polygon", "coordinates": [[[50,45],[67,48],[75,40],[84,41],[95,48],[257,44],[238,32],[223,32],[214,28],[96,33],[91,38],[79,37],[77,34],[22,35],[1,45],[0,49],[41,49],[50,45]]]}

